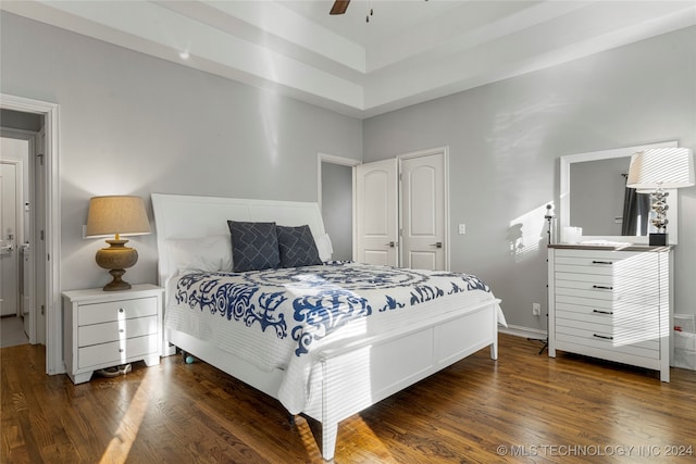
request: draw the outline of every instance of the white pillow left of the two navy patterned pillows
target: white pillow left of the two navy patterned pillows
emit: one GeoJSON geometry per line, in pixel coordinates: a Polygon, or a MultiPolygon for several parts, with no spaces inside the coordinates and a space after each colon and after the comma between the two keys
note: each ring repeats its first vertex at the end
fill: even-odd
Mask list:
{"type": "Polygon", "coordinates": [[[200,238],[166,240],[170,268],[179,274],[197,272],[232,272],[232,239],[229,234],[200,238]]]}

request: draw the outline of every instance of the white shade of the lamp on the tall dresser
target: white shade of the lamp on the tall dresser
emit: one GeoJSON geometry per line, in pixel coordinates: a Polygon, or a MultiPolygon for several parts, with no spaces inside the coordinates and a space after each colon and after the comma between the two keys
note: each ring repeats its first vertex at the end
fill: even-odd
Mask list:
{"type": "Polygon", "coordinates": [[[652,148],[631,156],[626,187],[654,191],[693,185],[694,153],[688,148],[652,148]]]}

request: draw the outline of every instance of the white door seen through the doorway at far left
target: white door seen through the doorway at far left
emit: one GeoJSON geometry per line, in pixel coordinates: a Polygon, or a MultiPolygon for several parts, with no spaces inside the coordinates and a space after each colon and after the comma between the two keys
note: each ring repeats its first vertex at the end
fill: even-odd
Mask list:
{"type": "MultiPolygon", "coordinates": [[[[5,148],[3,139],[3,149],[5,148]]],[[[3,150],[4,151],[4,150],[3,150]]],[[[0,162],[0,315],[20,315],[17,217],[22,177],[17,162],[0,162]]]]}

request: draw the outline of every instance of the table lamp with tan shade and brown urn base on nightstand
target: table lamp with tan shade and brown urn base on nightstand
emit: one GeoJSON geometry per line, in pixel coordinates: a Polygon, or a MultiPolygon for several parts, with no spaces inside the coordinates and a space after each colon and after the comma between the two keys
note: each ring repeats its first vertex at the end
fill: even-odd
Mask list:
{"type": "Polygon", "coordinates": [[[105,291],[128,290],[130,284],[122,279],[125,269],[138,262],[138,252],[126,247],[128,240],[121,239],[122,235],[150,234],[150,223],[145,211],[145,203],[140,197],[109,196],[94,197],[89,200],[87,215],[87,237],[115,236],[107,240],[109,247],[97,252],[97,264],[113,279],[103,287],[105,291]]]}

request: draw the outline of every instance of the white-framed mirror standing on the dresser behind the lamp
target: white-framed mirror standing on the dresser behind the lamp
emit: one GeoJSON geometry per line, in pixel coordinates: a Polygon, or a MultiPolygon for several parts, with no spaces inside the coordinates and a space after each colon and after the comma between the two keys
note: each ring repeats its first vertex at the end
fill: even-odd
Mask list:
{"type": "MultiPolygon", "coordinates": [[[[676,141],[642,145],[613,150],[593,151],[561,156],[560,159],[560,211],[558,211],[558,237],[564,241],[564,227],[580,227],[577,241],[610,241],[647,244],[647,233],[654,230],[648,214],[637,214],[635,231],[622,235],[624,224],[625,176],[631,155],[649,148],[673,148],[676,141]]],[[[678,198],[676,189],[668,189],[667,231],[669,243],[676,244],[678,198]]],[[[647,197],[647,196],[646,196],[647,197]]],[[[645,199],[647,201],[647,198],[645,199]]],[[[648,212],[649,212],[649,206],[648,212]]]]}

